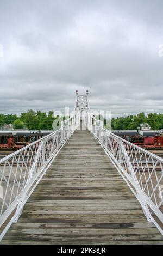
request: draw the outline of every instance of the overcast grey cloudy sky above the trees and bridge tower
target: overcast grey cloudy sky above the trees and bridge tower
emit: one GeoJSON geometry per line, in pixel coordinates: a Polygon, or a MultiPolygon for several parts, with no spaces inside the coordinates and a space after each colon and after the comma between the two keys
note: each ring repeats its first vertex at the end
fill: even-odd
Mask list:
{"type": "Polygon", "coordinates": [[[163,113],[162,0],[0,0],[0,113],[163,113]]]}

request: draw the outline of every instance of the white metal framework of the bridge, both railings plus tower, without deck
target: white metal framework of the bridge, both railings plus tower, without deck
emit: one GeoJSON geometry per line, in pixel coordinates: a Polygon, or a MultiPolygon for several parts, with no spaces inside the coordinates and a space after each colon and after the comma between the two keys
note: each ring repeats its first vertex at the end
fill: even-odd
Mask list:
{"type": "Polygon", "coordinates": [[[74,114],[62,121],[61,129],[0,160],[0,187],[4,191],[0,199],[0,227],[10,217],[0,240],[12,222],[17,221],[30,194],[81,120],[139,200],[147,220],[163,234],[156,220],[163,222],[163,159],[103,129],[103,123],[89,110],[88,92],[86,95],[76,92],[74,114]]]}

